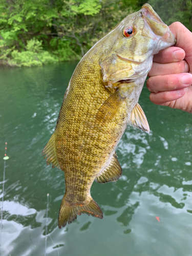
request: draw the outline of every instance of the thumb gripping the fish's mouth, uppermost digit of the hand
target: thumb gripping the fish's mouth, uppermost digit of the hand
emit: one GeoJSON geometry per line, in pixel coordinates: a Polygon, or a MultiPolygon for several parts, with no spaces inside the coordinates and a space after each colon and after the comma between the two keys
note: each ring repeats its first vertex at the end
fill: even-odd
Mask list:
{"type": "Polygon", "coordinates": [[[177,39],[176,47],[185,51],[185,59],[189,64],[190,73],[192,73],[192,33],[180,22],[174,22],[169,29],[177,39]]]}

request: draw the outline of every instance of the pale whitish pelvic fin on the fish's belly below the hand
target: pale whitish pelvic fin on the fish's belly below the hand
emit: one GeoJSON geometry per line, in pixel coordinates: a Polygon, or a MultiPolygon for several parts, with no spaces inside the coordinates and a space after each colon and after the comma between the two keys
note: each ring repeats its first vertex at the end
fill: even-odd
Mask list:
{"type": "Polygon", "coordinates": [[[150,133],[150,126],[148,125],[146,116],[141,109],[139,103],[137,103],[135,105],[135,108],[132,110],[131,116],[128,119],[128,123],[143,132],[146,132],[148,134],[150,133]]]}

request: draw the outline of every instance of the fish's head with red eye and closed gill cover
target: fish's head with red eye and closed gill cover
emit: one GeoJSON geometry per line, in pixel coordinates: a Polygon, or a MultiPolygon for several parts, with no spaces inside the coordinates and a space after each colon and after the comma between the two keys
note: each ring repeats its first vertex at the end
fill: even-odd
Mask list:
{"type": "Polygon", "coordinates": [[[103,82],[116,84],[146,76],[154,54],[175,43],[172,32],[153,8],[143,5],[103,38],[100,58],[103,82]]]}

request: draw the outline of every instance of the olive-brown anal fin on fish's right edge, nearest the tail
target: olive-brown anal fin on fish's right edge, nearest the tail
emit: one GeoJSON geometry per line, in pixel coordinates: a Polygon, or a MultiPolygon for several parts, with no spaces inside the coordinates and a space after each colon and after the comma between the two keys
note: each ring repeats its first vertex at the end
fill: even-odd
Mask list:
{"type": "Polygon", "coordinates": [[[98,183],[115,182],[121,177],[121,175],[122,168],[115,153],[108,167],[103,170],[100,176],[95,178],[95,181],[98,183]]]}

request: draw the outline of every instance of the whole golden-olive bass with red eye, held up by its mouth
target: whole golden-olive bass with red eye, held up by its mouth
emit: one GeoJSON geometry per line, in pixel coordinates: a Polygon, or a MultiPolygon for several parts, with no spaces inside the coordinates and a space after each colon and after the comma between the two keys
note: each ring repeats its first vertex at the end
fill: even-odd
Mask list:
{"type": "MultiPolygon", "coordinates": [[[[88,214],[102,219],[91,197],[97,183],[122,175],[115,148],[127,124],[150,132],[138,103],[153,56],[176,43],[149,4],[125,17],[80,60],[70,79],[55,131],[42,150],[65,175],[58,227],[88,214]]],[[[98,188],[99,189],[99,188],[98,188]]]]}

